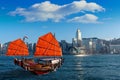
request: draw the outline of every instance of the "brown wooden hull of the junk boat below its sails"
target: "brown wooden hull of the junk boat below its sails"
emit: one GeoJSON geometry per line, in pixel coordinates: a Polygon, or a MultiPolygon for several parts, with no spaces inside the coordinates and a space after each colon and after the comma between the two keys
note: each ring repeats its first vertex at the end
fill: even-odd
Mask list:
{"type": "Polygon", "coordinates": [[[42,75],[42,74],[48,74],[49,72],[55,71],[57,68],[59,68],[62,64],[62,60],[56,64],[40,64],[40,63],[35,63],[32,60],[27,59],[15,59],[14,64],[22,67],[23,69],[30,71],[32,73],[35,73],[37,75],[42,75]]]}

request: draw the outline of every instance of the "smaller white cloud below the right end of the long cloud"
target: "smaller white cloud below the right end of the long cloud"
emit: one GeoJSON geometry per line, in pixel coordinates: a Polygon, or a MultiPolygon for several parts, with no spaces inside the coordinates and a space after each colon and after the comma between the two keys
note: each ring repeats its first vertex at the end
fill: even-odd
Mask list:
{"type": "Polygon", "coordinates": [[[68,22],[78,22],[78,23],[100,23],[98,22],[98,17],[93,14],[85,14],[80,17],[74,17],[68,20],[68,22]]]}

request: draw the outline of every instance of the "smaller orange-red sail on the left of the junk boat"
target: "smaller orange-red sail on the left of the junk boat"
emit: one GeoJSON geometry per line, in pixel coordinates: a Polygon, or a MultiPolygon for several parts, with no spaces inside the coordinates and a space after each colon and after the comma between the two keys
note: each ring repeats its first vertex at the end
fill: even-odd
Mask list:
{"type": "Polygon", "coordinates": [[[17,39],[10,42],[8,50],[6,53],[7,56],[28,56],[28,48],[23,40],[17,39]]]}

